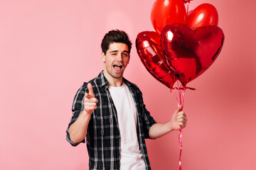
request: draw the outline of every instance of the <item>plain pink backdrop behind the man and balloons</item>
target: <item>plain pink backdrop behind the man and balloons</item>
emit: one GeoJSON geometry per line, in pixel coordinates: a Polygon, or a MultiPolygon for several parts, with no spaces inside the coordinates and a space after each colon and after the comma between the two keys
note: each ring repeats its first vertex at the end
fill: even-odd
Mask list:
{"type": "MultiPolygon", "coordinates": [[[[188,86],[183,169],[256,169],[255,1],[213,4],[225,33],[213,65],[188,86]]],[[[135,48],[139,32],[154,30],[154,0],[0,1],[0,169],[88,169],[86,145],[71,147],[65,130],[83,81],[102,70],[100,42],[108,30],[132,39],[124,77],[144,94],[159,123],[176,109],[174,93],[146,71],[135,48]]],[[[152,169],[178,169],[178,132],[147,140],[152,169]]]]}

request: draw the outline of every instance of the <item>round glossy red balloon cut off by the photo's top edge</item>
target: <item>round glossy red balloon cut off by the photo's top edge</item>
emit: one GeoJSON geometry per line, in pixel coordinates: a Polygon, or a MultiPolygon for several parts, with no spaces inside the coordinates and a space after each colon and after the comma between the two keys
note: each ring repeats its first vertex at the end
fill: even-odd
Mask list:
{"type": "Polygon", "coordinates": [[[159,35],[168,23],[186,23],[183,0],[156,0],[151,9],[151,23],[159,35]]]}

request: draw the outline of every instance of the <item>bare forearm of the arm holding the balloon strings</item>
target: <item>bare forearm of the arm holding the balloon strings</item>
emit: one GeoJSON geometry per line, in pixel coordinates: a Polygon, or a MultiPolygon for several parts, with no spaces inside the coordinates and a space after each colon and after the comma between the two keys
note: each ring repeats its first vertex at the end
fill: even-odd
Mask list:
{"type": "Polygon", "coordinates": [[[152,139],[159,138],[167,133],[171,132],[171,122],[168,123],[156,123],[149,129],[149,137],[152,139]]]}

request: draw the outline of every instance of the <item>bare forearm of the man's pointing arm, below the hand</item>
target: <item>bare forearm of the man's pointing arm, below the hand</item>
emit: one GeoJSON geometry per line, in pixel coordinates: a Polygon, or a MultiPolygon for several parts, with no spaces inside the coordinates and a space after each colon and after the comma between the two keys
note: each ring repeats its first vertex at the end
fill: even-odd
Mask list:
{"type": "Polygon", "coordinates": [[[85,139],[85,136],[87,135],[87,127],[90,121],[90,116],[90,114],[82,111],[78,119],[75,120],[72,125],[70,125],[70,140],[72,140],[74,143],[81,142],[85,139]]]}

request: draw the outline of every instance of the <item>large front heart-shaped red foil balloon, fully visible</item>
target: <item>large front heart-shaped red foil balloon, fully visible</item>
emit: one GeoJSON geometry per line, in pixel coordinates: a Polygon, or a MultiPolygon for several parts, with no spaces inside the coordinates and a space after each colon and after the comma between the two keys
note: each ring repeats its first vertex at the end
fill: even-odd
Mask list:
{"type": "Polygon", "coordinates": [[[161,31],[161,49],[167,64],[183,86],[201,75],[216,60],[224,33],[215,26],[191,28],[168,24],[161,31]]]}

